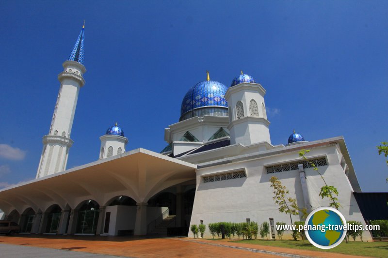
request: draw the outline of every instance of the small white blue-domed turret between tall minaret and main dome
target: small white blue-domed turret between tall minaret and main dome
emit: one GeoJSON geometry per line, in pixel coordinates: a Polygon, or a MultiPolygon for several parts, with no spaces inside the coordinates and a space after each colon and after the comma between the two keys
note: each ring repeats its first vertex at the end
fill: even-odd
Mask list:
{"type": "Polygon", "coordinates": [[[124,131],[117,123],[108,128],[106,134],[100,137],[101,147],[99,159],[110,158],[125,152],[128,139],[124,137],[124,131]]]}

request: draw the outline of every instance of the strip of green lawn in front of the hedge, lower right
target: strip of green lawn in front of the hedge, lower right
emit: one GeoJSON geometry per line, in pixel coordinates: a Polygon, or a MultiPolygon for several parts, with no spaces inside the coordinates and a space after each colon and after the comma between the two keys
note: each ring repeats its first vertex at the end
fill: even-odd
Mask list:
{"type": "Polygon", "coordinates": [[[304,249],[321,252],[332,252],[346,255],[358,255],[358,256],[369,256],[369,257],[388,257],[388,242],[353,242],[341,243],[332,249],[319,249],[309,243],[307,240],[303,241],[292,241],[292,240],[235,240],[230,241],[231,243],[248,243],[248,244],[259,244],[277,247],[286,247],[294,249],[304,249]]]}

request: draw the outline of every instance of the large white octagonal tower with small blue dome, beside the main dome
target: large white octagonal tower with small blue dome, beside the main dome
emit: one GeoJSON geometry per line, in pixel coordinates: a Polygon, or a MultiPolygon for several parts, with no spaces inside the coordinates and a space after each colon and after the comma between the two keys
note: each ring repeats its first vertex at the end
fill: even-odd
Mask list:
{"type": "Polygon", "coordinates": [[[229,108],[230,144],[271,143],[264,103],[264,88],[249,75],[237,76],[226,91],[229,108]]]}

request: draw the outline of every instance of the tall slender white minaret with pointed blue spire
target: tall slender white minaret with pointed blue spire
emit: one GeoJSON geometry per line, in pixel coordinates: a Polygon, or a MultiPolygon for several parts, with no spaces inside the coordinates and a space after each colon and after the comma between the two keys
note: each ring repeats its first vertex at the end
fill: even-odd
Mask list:
{"type": "Polygon", "coordinates": [[[44,177],[66,169],[69,149],[73,145],[70,139],[71,128],[76,111],[78,94],[85,84],[83,74],[83,41],[85,23],[78,36],[70,57],[62,65],[64,71],[58,75],[61,82],[49,134],[43,137],[43,151],[36,178],[44,177]]]}

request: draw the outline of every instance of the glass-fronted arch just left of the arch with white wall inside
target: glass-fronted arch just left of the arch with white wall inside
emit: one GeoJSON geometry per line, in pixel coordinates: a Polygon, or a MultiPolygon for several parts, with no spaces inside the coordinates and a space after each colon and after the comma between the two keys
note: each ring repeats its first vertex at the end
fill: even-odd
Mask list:
{"type": "Polygon", "coordinates": [[[80,203],[78,211],[76,234],[96,234],[99,215],[99,205],[94,200],[80,203]]]}

